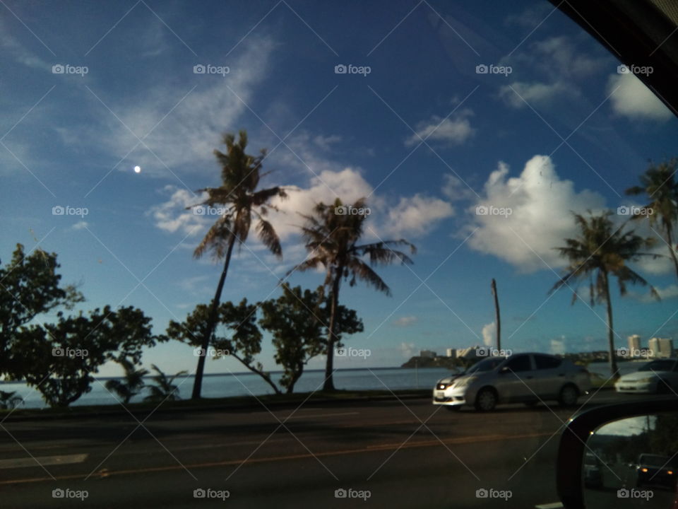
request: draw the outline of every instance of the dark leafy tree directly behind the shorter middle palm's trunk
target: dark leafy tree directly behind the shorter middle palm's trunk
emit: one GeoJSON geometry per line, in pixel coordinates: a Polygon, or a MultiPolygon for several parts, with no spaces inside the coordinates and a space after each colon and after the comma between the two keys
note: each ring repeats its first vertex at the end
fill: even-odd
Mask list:
{"type": "MultiPolygon", "coordinates": [[[[302,292],[300,286],[290,288],[283,283],[282,296],[260,303],[263,317],[259,324],[273,333],[275,362],[285,370],[280,385],[288,393],[294,391],[309,360],[326,351],[329,313],[328,306],[321,305],[321,298],[320,288],[316,292],[308,289],[302,292]]],[[[337,341],[343,333],[355,334],[362,330],[362,321],[357,318],[355,310],[340,305],[335,328],[337,341]]]]}

